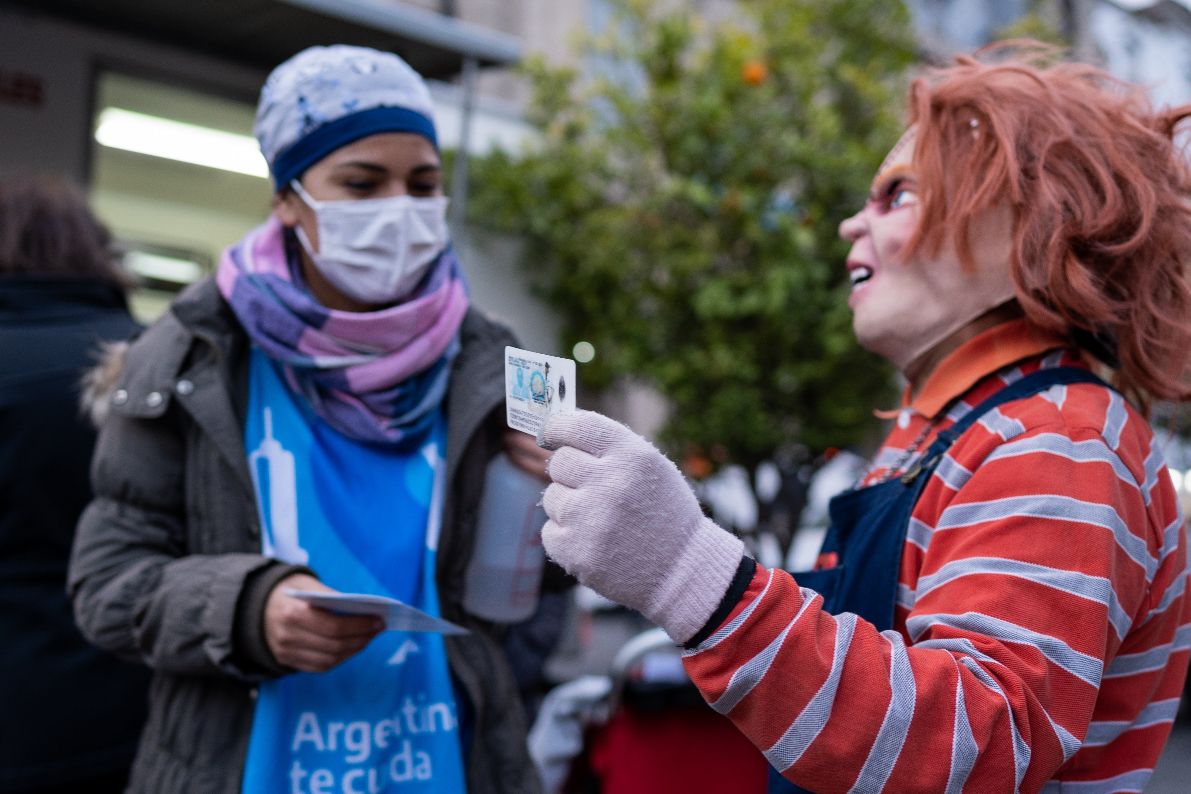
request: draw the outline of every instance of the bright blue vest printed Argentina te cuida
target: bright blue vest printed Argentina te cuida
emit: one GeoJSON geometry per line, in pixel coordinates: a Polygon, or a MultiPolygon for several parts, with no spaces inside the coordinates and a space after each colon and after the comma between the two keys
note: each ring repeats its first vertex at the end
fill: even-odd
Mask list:
{"type": "MultiPolygon", "coordinates": [[[[251,352],[244,426],[262,551],[337,590],[438,615],[447,421],[414,452],[350,439],[251,352]]],[[[462,794],[459,711],[439,634],[386,631],[324,673],[258,688],[244,794],[462,794]]]]}

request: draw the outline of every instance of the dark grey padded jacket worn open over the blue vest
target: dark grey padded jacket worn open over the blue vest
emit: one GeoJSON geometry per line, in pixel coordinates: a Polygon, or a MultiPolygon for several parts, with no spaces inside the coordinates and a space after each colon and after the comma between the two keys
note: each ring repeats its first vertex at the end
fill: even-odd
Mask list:
{"type": "MultiPolygon", "coordinates": [[[[510,331],[468,312],[447,398],[449,490],[438,550],[447,639],[469,695],[470,794],[537,794],[525,720],[492,627],[463,612],[487,462],[501,449],[510,331]]],[[[155,676],[130,792],[238,794],[255,683],[285,675],[264,643],[269,590],[304,570],[260,554],[243,444],[248,336],[210,277],[127,350],[92,464],[95,499],[69,588],[93,643],[155,676]]],[[[461,705],[462,706],[462,705],[461,705]]]]}

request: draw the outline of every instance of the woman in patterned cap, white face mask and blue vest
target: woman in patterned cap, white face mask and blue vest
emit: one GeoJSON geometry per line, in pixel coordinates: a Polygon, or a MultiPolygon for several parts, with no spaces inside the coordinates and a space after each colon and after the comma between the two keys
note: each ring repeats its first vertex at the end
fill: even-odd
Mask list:
{"type": "MultiPolygon", "coordinates": [[[[425,83],[391,54],[278,67],[269,220],[127,349],[70,588],[155,671],[131,792],[536,792],[516,684],[461,607],[510,332],[468,308],[425,83]],[[312,607],[389,595],[444,638],[312,607]]],[[[525,438],[518,445],[517,438],[525,438]]]]}

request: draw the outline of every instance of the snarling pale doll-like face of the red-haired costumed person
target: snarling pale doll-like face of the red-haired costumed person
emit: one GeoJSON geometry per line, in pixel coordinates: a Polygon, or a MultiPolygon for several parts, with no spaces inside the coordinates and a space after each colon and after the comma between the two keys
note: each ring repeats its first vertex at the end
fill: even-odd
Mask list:
{"type": "Polygon", "coordinates": [[[948,238],[939,255],[899,255],[918,227],[919,193],[912,170],[913,130],[898,142],[873,180],[865,208],[840,225],[852,243],[852,326],[860,344],[905,371],[924,352],[1014,298],[1009,274],[1012,217],[989,210],[971,224],[975,273],[960,264],[948,238]]]}

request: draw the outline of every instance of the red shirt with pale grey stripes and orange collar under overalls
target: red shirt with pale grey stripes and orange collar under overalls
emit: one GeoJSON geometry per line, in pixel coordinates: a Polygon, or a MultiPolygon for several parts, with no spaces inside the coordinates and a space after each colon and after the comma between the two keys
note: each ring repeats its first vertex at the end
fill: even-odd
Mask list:
{"type": "MultiPolygon", "coordinates": [[[[969,340],[904,401],[869,479],[944,407],[921,450],[1022,375],[1085,365],[1054,345],[1024,320],[969,340]]],[[[892,631],[757,567],[685,664],[822,794],[1141,792],[1191,654],[1186,546],[1141,415],[1099,386],[1055,386],[985,414],[943,457],[910,523],[892,631]]]]}

